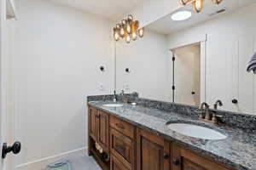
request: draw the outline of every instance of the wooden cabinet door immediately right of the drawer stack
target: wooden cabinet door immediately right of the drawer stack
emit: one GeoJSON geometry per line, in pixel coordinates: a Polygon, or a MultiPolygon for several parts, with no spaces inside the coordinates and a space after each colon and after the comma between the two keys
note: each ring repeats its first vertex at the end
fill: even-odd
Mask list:
{"type": "Polygon", "coordinates": [[[170,144],[137,128],[137,170],[169,170],[170,144]]]}

